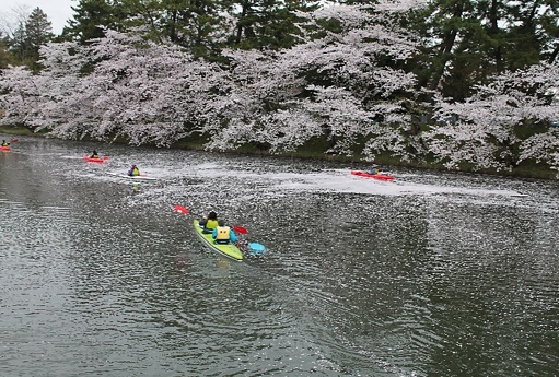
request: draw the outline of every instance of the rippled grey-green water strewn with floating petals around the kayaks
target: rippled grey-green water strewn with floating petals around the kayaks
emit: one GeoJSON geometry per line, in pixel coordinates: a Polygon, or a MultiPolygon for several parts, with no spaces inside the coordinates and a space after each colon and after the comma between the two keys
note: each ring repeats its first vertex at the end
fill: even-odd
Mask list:
{"type": "Polygon", "coordinates": [[[0,376],[559,375],[557,182],[366,167],[19,139],[0,376]],[[132,163],[158,180],[107,174],[132,163]],[[216,255],[174,204],[266,255],[216,255]]]}

